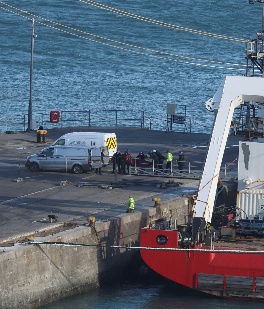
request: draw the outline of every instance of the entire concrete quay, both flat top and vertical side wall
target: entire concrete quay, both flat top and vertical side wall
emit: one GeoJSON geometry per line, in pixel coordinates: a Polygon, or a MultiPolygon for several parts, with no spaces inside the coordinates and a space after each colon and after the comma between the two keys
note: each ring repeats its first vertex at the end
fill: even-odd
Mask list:
{"type": "MultiPolygon", "coordinates": [[[[173,224],[185,223],[189,199],[182,195],[194,194],[198,186],[196,179],[181,179],[179,181],[183,184],[180,187],[168,189],[136,185],[111,190],[77,187],[78,183],[110,185],[115,175],[111,173],[112,166],[109,165],[102,169],[103,175],[94,172],[79,175],[68,173],[70,185],[61,187],[60,183],[64,179],[62,172],[48,171],[32,175],[34,173],[21,163],[19,176],[23,181],[14,181],[18,179],[19,153],[23,152],[25,155],[22,157],[25,158],[48,146],[62,134],[75,131],[116,133],[118,149],[123,153],[129,148],[132,156],[136,156],[139,150],[147,153],[155,149],[165,154],[169,149],[174,159],[177,159],[178,151],[182,150],[188,161],[203,161],[209,140],[209,134],[111,127],[50,129],[47,145],[36,143],[36,132],[0,134],[1,308],[37,308],[100,287],[106,274],[123,269],[138,252],[138,249],[128,248],[139,246],[140,228],[159,217],[171,217],[173,224]],[[134,214],[125,213],[129,195],[135,200],[134,214]],[[153,207],[152,198],[157,196],[161,198],[160,209],[153,207]],[[44,220],[51,212],[59,214],[57,223],[44,220]],[[87,224],[86,218],[90,215],[96,217],[95,229],[87,224]],[[64,222],[79,223],[79,226],[56,232],[56,228],[64,222]],[[55,234],[52,236],[53,231],[55,234]],[[45,237],[36,237],[40,233],[45,237]],[[21,243],[28,235],[33,235],[35,241],[127,248],[21,243]],[[10,246],[9,243],[14,242],[17,243],[10,246]]],[[[224,162],[232,162],[237,157],[239,140],[243,138],[229,137],[224,162]]],[[[154,179],[117,175],[117,181],[122,178],[154,179]]]]}

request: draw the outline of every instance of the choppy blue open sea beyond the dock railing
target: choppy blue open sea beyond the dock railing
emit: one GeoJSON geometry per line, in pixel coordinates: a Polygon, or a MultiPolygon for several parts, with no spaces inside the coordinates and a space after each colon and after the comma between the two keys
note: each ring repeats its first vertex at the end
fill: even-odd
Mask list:
{"type": "MultiPolygon", "coordinates": [[[[204,102],[214,95],[224,75],[241,75],[243,72],[214,67],[234,68],[234,65],[154,53],[89,36],[55,23],[146,49],[234,64],[245,64],[243,42],[164,27],[78,0],[10,0],[5,3],[17,9],[2,3],[0,6],[22,16],[32,18],[19,10],[52,21],[35,17],[33,113],[49,113],[57,109],[143,110],[146,118],[153,117],[152,128],[163,129],[166,126],[166,104],[176,103],[179,113],[182,113],[181,106],[187,106],[187,119],[210,125],[213,115],[207,112],[204,102]],[[37,21],[139,53],[207,67],[113,48],[37,21]]],[[[256,31],[262,27],[262,5],[250,5],[247,0],[120,0],[100,3],[156,21],[239,39],[255,38],[256,31]]],[[[2,8],[0,14],[0,116],[27,114],[31,20],[2,8]]],[[[33,120],[36,119],[33,117],[33,120]]],[[[193,124],[192,129],[209,131],[197,124],[193,124]]]]}

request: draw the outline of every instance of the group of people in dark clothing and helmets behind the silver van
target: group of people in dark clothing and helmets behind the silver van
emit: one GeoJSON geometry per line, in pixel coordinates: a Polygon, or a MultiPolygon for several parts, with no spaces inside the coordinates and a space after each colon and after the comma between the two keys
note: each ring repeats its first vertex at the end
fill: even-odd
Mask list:
{"type": "MultiPolygon", "coordinates": [[[[166,158],[164,155],[160,153],[160,151],[153,150],[149,151],[148,155],[145,155],[142,150],[139,151],[138,155],[136,156],[136,159],[152,159],[152,162],[154,164],[154,168],[158,169],[160,171],[163,171],[163,162],[166,160],[166,171],[167,173],[169,170],[172,170],[172,160],[173,155],[169,150],[166,151],[166,158]]],[[[129,173],[129,165],[127,164],[131,159],[130,150],[127,149],[122,155],[120,153],[120,150],[117,150],[117,152],[112,156],[112,163],[113,163],[113,171],[115,172],[116,164],[118,166],[118,173],[120,175],[126,175],[126,166],[127,166],[127,173],[129,173]]],[[[182,151],[179,151],[179,158],[178,158],[178,168],[180,170],[180,173],[183,173],[183,166],[184,166],[184,153],[182,151]]]]}

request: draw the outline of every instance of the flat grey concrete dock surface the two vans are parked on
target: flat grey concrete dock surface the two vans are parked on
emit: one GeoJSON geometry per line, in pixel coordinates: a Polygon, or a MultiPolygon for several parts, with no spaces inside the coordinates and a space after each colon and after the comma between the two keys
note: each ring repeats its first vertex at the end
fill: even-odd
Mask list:
{"type": "MultiPolygon", "coordinates": [[[[103,175],[94,171],[82,174],[67,172],[69,185],[60,186],[64,173],[45,171],[32,173],[24,167],[24,159],[49,146],[65,133],[109,132],[117,136],[117,149],[123,153],[130,149],[131,157],[136,157],[140,150],[145,154],[149,150],[159,150],[166,156],[170,150],[174,160],[179,150],[185,153],[186,161],[203,161],[206,155],[210,134],[149,131],[129,127],[72,127],[49,129],[46,144],[36,143],[36,131],[0,133],[0,242],[29,235],[35,231],[44,231],[66,221],[85,222],[87,216],[93,215],[96,220],[106,220],[126,212],[129,196],[135,200],[135,211],[154,204],[152,197],[158,196],[161,201],[173,197],[193,195],[198,187],[197,179],[173,179],[182,182],[177,188],[157,188],[156,186],[126,185],[124,188],[84,188],[78,184],[95,184],[111,186],[115,180],[158,180],[156,177],[129,176],[112,174],[112,165],[102,168],[103,175]],[[19,167],[19,157],[21,166],[19,167]],[[23,181],[15,181],[18,179],[23,181]],[[57,223],[50,223],[48,214],[59,214],[57,223]]],[[[223,162],[231,163],[238,156],[238,142],[243,137],[229,136],[223,162]]],[[[160,180],[162,178],[160,177],[160,180]]],[[[164,178],[168,181],[170,178],[164,178]]],[[[4,244],[0,244],[0,247],[4,244]]]]}

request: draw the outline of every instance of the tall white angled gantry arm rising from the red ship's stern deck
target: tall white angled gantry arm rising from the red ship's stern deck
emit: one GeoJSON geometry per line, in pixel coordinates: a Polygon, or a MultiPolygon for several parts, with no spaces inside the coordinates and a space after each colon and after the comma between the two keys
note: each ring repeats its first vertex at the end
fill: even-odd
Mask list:
{"type": "Polygon", "coordinates": [[[245,101],[264,103],[264,78],[226,76],[214,97],[206,102],[211,104],[217,116],[194,206],[193,241],[198,231],[204,230],[211,222],[218,174],[232,116],[234,109],[245,101]]]}

